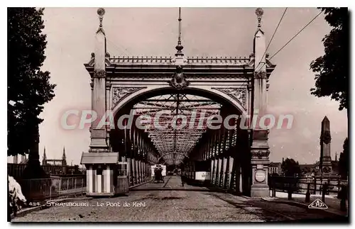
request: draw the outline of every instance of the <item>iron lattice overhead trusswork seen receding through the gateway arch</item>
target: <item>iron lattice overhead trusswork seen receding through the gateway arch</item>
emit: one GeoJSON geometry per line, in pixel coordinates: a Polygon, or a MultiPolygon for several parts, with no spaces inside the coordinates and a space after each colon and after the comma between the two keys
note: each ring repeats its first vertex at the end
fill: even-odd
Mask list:
{"type": "Polygon", "coordinates": [[[180,164],[207,130],[207,118],[222,105],[202,96],[164,94],[133,106],[149,138],[166,164],[180,164]],[[149,121],[150,120],[150,121],[149,121]]]}

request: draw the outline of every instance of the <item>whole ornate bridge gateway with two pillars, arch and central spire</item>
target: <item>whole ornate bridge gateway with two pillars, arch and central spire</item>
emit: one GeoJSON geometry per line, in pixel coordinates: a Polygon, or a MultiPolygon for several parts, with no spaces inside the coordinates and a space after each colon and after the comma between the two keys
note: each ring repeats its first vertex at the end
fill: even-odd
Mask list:
{"type": "Polygon", "coordinates": [[[266,112],[268,79],[275,65],[266,54],[263,10],[256,9],[258,26],[249,57],[186,57],[180,9],[174,57],[114,57],[107,50],[104,13],[97,11],[95,49],[84,65],[92,79],[92,110],[98,117],[111,111],[115,123],[131,114],[133,125],[92,124],[89,151],[81,162],[87,168],[87,195],[114,194],[118,162],[129,164],[129,183],[134,185],[147,181],[150,165],[160,160],[189,170],[195,162],[207,161],[212,184],[249,196],[268,196],[268,130],[252,128],[250,122],[248,129],[241,129],[236,118],[229,120],[233,128],[212,129],[206,124],[213,115],[266,112]],[[172,128],[171,123],[182,116],[186,123],[182,119],[181,128],[172,128]]]}

